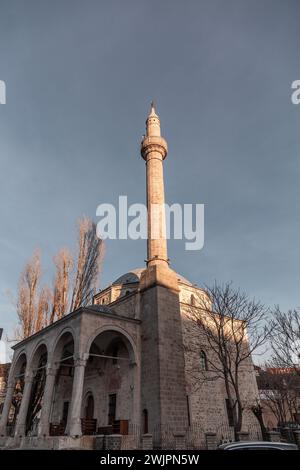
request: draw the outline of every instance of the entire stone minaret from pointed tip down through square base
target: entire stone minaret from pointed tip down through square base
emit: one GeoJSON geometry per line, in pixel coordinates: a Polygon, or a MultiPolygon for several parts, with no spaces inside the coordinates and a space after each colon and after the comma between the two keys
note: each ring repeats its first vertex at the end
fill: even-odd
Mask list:
{"type": "Polygon", "coordinates": [[[177,274],[169,268],[165,236],[163,160],[167,143],[153,103],[141,154],[147,168],[147,269],[140,280],[141,411],[162,445],[167,429],[188,423],[182,325],[177,274]]]}

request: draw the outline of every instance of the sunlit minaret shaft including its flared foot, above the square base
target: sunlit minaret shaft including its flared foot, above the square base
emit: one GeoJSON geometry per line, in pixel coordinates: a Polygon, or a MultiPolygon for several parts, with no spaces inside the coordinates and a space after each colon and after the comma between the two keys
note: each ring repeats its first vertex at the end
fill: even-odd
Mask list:
{"type": "Polygon", "coordinates": [[[160,120],[153,102],[146,120],[146,135],[141,143],[141,155],[146,162],[147,175],[147,270],[141,279],[141,288],[160,284],[178,290],[177,276],[169,269],[166,240],[165,190],[163,161],[168,145],[161,136],[160,120]]]}

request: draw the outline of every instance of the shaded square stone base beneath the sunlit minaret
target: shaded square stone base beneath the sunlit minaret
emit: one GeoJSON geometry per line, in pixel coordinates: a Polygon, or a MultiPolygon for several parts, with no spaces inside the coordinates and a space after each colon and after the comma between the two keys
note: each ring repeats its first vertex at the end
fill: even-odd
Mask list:
{"type": "Polygon", "coordinates": [[[187,426],[184,356],[178,293],[162,286],[141,293],[142,409],[155,426],[187,426]]]}

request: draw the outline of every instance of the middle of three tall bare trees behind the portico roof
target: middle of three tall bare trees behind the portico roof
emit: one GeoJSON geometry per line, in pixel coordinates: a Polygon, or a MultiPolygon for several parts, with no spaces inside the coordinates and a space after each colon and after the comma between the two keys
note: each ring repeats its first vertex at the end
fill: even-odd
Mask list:
{"type": "Polygon", "coordinates": [[[73,257],[68,248],[61,249],[53,258],[56,273],[53,285],[53,300],[49,323],[59,320],[69,309],[70,276],[73,257]]]}

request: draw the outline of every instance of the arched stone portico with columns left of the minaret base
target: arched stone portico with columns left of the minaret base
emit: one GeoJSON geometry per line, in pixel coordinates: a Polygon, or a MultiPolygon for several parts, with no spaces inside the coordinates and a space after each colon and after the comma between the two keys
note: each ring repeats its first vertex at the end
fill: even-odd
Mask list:
{"type": "MultiPolygon", "coordinates": [[[[120,426],[126,432],[130,423],[138,423],[139,360],[128,331],[109,323],[80,337],[68,325],[56,337],[42,337],[15,353],[12,391],[3,408],[8,418],[18,383],[15,437],[76,437],[101,427],[120,432],[120,426]]],[[[7,435],[2,413],[4,421],[0,435],[7,435]]]]}

